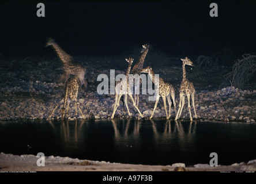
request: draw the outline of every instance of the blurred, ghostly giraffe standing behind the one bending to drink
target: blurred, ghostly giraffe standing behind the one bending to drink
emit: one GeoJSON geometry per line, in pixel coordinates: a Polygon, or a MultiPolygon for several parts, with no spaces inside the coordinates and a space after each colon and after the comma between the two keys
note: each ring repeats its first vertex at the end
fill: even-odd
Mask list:
{"type": "Polygon", "coordinates": [[[81,64],[74,63],[74,59],[72,56],[70,56],[68,53],[63,51],[61,47],[54,41],[54,39],[49,38],[46,47],[51,45],[51,47],[55,50],[57,53],[59,59],[61,59],[63,63],[63,69],[66,73],[65,80],[69,79],[70,75],[77,75],[78,78],[81,81],[82,85],[87,85],[87,82],[85,80],[85,74],[86,74],[86,68],[81,66],[81,64]]]}

